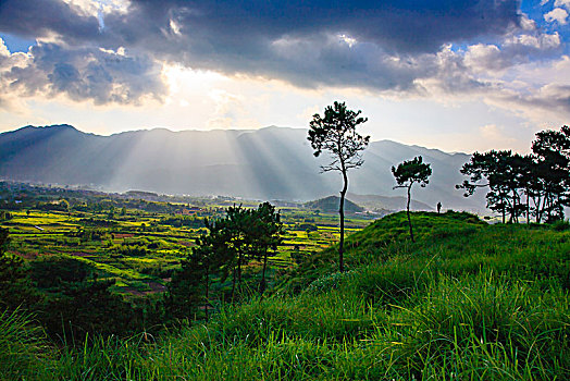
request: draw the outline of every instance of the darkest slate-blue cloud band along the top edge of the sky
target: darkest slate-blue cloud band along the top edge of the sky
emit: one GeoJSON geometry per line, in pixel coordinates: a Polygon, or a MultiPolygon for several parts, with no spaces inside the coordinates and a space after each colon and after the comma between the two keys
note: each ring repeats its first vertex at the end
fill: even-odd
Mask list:
{"type": "Polygon", "coordinates": [[[513,0],[181,1],[134,0],[127,20],[159,30],[175,19],[185,34],[241,42],[345,33],[397,52],[436,51],[442,44],[501,34],[519,23],[513,0]]]}

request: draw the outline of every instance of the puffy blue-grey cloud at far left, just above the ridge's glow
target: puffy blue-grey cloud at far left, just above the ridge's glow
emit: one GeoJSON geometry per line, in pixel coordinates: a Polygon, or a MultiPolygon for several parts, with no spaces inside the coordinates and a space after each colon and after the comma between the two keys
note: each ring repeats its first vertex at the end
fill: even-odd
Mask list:
{"type": "Polygon", "coordinates": [[[5,47],[0,50],[0,86],[5,93],[65,94],[96,105],[137,103],[145,97],[160,98],[166,93],[160,65],[121,50],[72,49],[58,44],[39,44],[28,53],[10,53],[5,47]]]}

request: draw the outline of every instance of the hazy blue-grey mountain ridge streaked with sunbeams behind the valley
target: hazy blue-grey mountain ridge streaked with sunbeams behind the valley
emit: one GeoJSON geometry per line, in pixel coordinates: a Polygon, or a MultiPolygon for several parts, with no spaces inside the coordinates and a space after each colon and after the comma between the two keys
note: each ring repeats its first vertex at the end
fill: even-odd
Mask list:
{"type": "MultiPolygon", "coordinates": [[[[463,198],[455,189],[462,181],[459,169],[469,155],[391,140],[369,145],[362,168],[349,172],[349,192],[405,196],[393,190],[391,167],[418,155],[432,164],[433,175],[426,188],[412,192],[414,200],[432,208],[442,201],[444,208],[484,209],[483,195],[463,198]]],[[[339,175],[320,173],[326,160],[326,156],[314,158],[305,128],[156,128],[100,136],[63,124],[0,134],[0,177],[116,192],[306,201],[338,194],[339,175]]]]}

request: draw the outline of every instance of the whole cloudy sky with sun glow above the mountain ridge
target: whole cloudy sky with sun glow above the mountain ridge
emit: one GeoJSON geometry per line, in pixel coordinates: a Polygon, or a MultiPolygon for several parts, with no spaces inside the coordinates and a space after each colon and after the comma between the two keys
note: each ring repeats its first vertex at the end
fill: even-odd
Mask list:
{"type": "Polygon", "coordinates": [[[0,0],[0,132],[308,127],[528,152],[570,123],[570,0],[0,0]]]}

